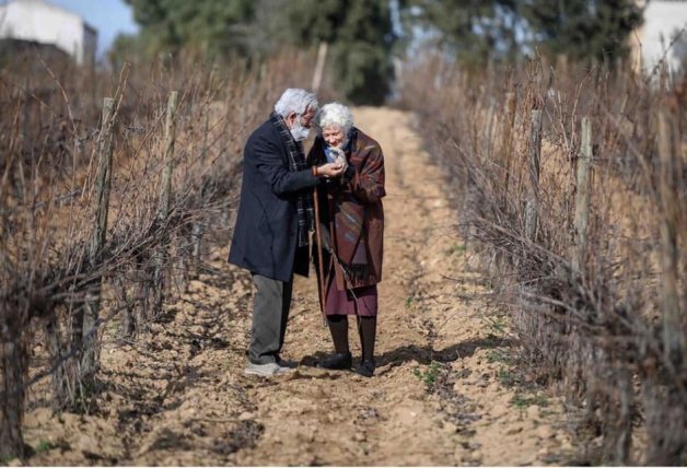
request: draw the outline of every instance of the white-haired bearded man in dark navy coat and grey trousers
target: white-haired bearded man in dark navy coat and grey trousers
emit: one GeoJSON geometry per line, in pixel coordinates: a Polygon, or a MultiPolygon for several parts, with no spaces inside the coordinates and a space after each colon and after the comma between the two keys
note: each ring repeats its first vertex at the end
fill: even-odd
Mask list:
{"type": "Polygon", "coordinates": [[[243,185],[229,262],[253,274],[255,296],[246,374],[271,376],[290,370],[281,360],[293,273],[307,276],[308,232],[314,225],[313,187],[335,177],[340,163],[308,167],[302,141],[317,112],[304,90],[284,91],[275,112],[248,138],[243,185]]]}

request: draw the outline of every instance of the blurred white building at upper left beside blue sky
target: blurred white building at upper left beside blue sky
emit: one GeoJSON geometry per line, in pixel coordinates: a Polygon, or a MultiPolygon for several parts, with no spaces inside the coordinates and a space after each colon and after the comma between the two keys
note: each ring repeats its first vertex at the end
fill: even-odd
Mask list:
{"type": "Polygon", "coordinates": [[[0,5],[0,38],[51,45],[88,63],[95,60],[97,31],[44,0],[10,0],[0,5]]]}

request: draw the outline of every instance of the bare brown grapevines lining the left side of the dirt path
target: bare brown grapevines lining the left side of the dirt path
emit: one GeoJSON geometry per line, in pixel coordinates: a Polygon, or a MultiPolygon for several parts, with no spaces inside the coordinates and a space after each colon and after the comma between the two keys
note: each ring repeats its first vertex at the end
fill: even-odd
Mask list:
{"type": "Polygon", "coordinates": [[[45,377],[55,407],[92,410],[104,325],[136,336],[203,268],[206,239],[228,241],[247,132],[284,87],[308,82],[308,59],[290,51],[264,63],[177,58],[110,74],[28,55],[0,70],[0,456],[25,454],[25,395],[45,377]],[[179,95],[174,172],[161,218],[172,91],[179,95]],[[105,242],[94,250],[105,96],[115,98],[114,157],[105,242]],[[38,337],[49,362],[28,378],[27,349],[38,337]]]}

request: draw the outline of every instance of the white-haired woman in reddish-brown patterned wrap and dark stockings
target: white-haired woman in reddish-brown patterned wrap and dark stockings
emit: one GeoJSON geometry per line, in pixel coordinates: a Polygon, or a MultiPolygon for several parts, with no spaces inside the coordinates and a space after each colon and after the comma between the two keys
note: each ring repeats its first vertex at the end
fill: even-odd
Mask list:
{"type": "MultiPolygon", "coordinates": [[[[348,316],[354,315],[362,359],[356,372],[374,374],[377,286],[382,280],[384,234],[384,156],[372,138],[353,126],[353,117],[339,103],[326,104],[315,116],[317,137],[308,153],[311,165],[342,162],[340,177],[318,187],[325,314],[334,340],[334,354],[318,362],[325,368],[350,370],[348,316]]],[[[322,293],[322,292],[321,292],[322,293]]]]}

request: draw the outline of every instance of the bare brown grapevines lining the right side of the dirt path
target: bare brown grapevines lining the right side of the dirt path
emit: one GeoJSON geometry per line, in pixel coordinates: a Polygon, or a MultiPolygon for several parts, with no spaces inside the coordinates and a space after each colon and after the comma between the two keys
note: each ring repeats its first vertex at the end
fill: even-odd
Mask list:
{"type": "Polygon", "coordinates": [[[685,95],[665,77],[659,86],[620,70],[563,74],[533,61],[523,70],[467,75],[431,59],[408,73],[404,105],[421,115],[432,152],[454,174],[464,203],[459,225],[481,249],[485,273],[511,312],[523,364],[571,402],[586,447],[581,461],[685,464],[684,150],[677,147],[669,171],[677,184],[671,218],[656,148],[659,113],[684,119],[685,95]],[[512,127],[508,92],[517,103],[512,127]],[[528,235],[534,108],[543,110],[544,142],[538,223],[528,235]],[[592,122],[594,159],[586,255],[575,269],[583,116],[592,122]],[[665,305],[671,268],[661,236],[668,219],[677,239],[667,257],[677,265],[673,313],[665,305]],[[683,343],[673,353],[666,332],[683,343]]]}

